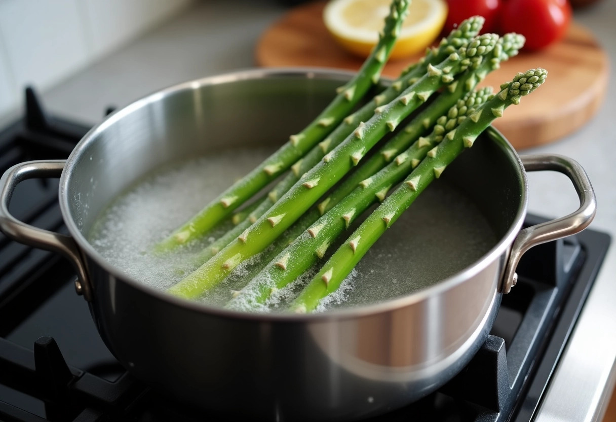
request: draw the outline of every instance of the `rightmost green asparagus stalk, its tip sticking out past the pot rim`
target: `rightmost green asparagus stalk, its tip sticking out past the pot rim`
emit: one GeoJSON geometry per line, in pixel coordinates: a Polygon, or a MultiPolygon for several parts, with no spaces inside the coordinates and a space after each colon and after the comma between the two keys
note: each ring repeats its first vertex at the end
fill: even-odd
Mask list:
{"type": "Polygon", "coordinates": [[[546,76],[547,72],[542,68],[518,73],[513,81],[501,85],[501,91],[461,122],[458,128],[449,131],[444,141],[431,150],[431,154],[411,172],[404,183],[336,250],[294,300],[291,309],[296,312],[312,311],[320,299],[335,291],[370,246],[395,223],[428,184],[439,178],[465,148],[471,147],[492,120],[503,115],[506,107],[519,104],[521,97],[537,89],[546,76]]]}

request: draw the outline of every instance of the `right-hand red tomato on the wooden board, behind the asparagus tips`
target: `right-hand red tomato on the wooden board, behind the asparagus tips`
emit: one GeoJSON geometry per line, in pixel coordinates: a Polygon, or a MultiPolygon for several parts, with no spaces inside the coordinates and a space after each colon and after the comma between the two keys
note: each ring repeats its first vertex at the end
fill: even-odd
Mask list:
{"type": "Polygon", "coordinates": [[[567,0],[509,0],[500,13],[503,33],[526,37],[525,48],[538,50],[555,43],[567,33],[571,6],[567,0]]]}

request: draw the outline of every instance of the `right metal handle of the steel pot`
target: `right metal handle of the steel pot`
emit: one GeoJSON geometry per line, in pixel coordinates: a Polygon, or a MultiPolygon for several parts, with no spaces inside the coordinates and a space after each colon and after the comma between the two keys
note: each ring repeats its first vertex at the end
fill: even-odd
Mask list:
{"type": "Polygon", "coordinates": [[[524,252],[538,244],[565,238],[584,230],[593,221],[597,212],[597,199],[594,196],[593,186],[580,163],[564,155],[556,154],[522,155],[520,159],[527,172],[554,170],[567,175],[580,198],[580,208],[565,217],[546,221],[520,231],[511,246],[511,254],[509,254],[509,261],[505,267],[505,277],[501,288],[505,294],[509,293],[517,283],[515,271],[524,252]]]}

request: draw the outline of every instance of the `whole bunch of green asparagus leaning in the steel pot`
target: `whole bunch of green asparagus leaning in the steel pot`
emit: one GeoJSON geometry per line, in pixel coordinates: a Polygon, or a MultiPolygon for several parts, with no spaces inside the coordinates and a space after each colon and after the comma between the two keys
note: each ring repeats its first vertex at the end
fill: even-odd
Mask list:
{"type": "Polygon", "coordinates": [[[352,221],[381,201],[293,302],[296,312],[314,310],[464,147],[472,146],[506,107],[517,104],[522,95],[545,80],[545,70],[529,70],[503,84],[496,96],[488,88],[475,91],[488,72],[517,54],[524,37],[479,36],[483,19],[473,17],[438,47],[428,49],[426,56],[389,88],[349,115],[378,82],[407,8],[407,0],[392,2],[375,50],[314,122],[156,247],[158,252],[170,250],[203,236],[269,181],[291,169],[269,194],[232,216],[235,227],[203,250],[195,262],[200,267],[169,292],[187,299],[200,297],[240,263],[261,254],[261,264],[249,271],[245,288],[234,291],[235,299],[228,304],[258,308],[273,291],[314,267],[352,221]],[[359,165],[385,134],[395,131],[441,88],[433,101],[359,165]],[[351,170],[354,172],[338,184],[351,170]],[[386,199],[387,192],[402,180],[386,199]]]}

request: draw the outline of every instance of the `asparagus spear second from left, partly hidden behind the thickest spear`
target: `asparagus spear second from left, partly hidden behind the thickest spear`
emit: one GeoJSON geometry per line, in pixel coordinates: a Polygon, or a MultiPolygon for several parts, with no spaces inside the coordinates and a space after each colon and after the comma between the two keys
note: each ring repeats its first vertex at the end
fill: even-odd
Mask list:
{"type": "MultiPolygon", "coordinates": [[[[399,93],[402,91],[403,87],[407,87],[410,81],[415,82],[418,77],[426,73],[428,69],[428,65],[436,65],[442,62],[447,58],[449,54],[455,52],[455,48],[460,48],[462,46],[466,46],[469,41],[477,36],[479,30],[481,29],[484,23],[484,18],[480,16],[474,16],[469,19],[464,20],[460,23],[460,26],[455,30],[452,30],[451,33],[447,36],[447,38],[443,38],[438,46],[438,48],[428,49],[426,52],[426,56],[419,60],[419,63],[413,65],[412,70],[407,70],[398,80],[394,81],[389,88],[385,89],[382,93],[378,94],[375,98],[373,98],[370,102],[365,104],[361,109],[357,110],[354,114],[345,118],[334,130],[330,136],[328,136],[323,142],[319,143],[318,146],[313,147],[313,149],[302,159],[299,159],[293,166],[291,166],[291,170],[293,172],[288,173],[282,181],[280,181],[272,191],[269,192],[265,201],[255,209],[250,215],[249,220],[245,220],[239,225],[235,226],[232,230],[225,233],[221,238],[214,241],[209,247],[203,250],[201,254],[198,254],[195,257],[195,263],[200,265],[201,263],[206,262],[208,259],[216,255],[222,248],[227,246],[233,239],[240,236],[243,231],[248,229],[248,227],[253,224],[257,218],[261,217],[267,210],[270,209],[272,205],[275,204],[278,198],[282,197],[291,187],[299,180],[299,177],[304,173],[308,172],[312,167],[317,165],[317,163],[323,158],[325,154],[330,152],[336,146],[338,146],[344,139],[352,133],[357,127],[357,123],[365,122],[370,117],[374,115],[376,107],[379,104],[386,104],[387,102],[392,101],[399,93]]],[[[458,91],[461,92],[461,89],[458,91]]],[[[458,93],[458,97],[460,98],[460,93],[458,93]]],[[[455,99],[447,104],[444,104],[441,107],[441,111],[437,113],[437,115],[442,114],[448,107],[452,106],[455,99]]],[[[432,122],[433,124],[434,122],[432,122]]],[[[426,124],[426,123],[424,123],[426,124]]],[[[420,126],[420,125],[418,125],[420,126]]],[[[423,131],[426,128],[421,128],[423,131]]],[[[419,134],[417,134],[419,136],[419,134]]],[[[401,146],[400,149],[403,149],[404,146],[401,146]]],[[[385,163],[379,168],[383,168],[385,163]]],[[[376,168],[374,172],[379,170],[376,168]]],[[[371,172],[369,174],[372,174],[371,172]]],[[[363,180],[360,179],[357,181],[363,180]]],[[[352,186],[354,188],[356,184],[352,186]]],[[[351,190],[349,189],[347,193],[351,190]]],[[[344,194],[343,196],[346,196],[344,194]]]]}

